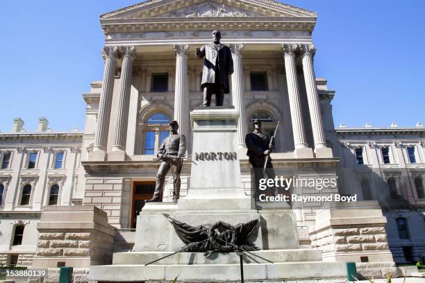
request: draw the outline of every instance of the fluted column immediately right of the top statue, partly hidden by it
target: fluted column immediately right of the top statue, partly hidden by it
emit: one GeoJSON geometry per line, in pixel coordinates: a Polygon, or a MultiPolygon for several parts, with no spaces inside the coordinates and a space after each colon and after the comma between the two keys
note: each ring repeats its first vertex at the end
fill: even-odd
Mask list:
{"type": "Polygon", "coordinates": [[[233,58],[232,74],[232,101],[235,110],[239,111],[238,121],[238,147],[246,148],[245,135],[247,126],[245,124],[245,101],[244,101],[244,70],[242,69],[242,49],[244,44],[230,44],[233,58]]]}

